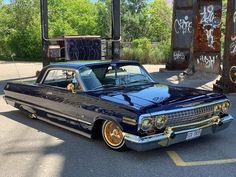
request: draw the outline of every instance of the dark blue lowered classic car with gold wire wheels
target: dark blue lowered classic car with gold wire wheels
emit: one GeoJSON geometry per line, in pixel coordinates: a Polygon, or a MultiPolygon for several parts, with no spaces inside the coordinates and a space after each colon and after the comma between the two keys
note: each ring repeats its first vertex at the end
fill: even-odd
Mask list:
{"type": "Polygon", "coordinates": [[[225,95],[162,85],[134,61],[54,63],[35,81],[9,82],[8,104],[31,118],[113,150],[150,150],[227,128],[233,117],[225,95]]]}

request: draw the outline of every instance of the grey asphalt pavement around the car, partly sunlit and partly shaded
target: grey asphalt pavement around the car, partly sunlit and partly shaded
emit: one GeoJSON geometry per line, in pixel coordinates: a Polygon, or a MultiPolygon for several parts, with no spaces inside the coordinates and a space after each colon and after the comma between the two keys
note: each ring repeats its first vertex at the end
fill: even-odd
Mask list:
{"type": "MultiPolygon", "coordinates": [[[[0,62],[0,177],[236,177],[236,121],[218,134],[167,148],[116,152],[102,140],[29,119],[5,103],[2,90],[7,81],[32,79],[41,67],[0,62]]],[[[218,78],[183,79],[180,71],[145,67],[163,84],[211,89],[218,78]]],[[[228,97],[230,113],[236,117],[236,95],[228,97]]]]}

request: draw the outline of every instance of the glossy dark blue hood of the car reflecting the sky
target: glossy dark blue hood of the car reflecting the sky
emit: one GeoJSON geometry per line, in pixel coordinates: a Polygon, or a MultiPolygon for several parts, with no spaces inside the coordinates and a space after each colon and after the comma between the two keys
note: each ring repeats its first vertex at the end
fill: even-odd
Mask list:
{"type": "MultiPolygon", "coordinates": [[[[161,84],[126,87],[117,90],[103,90],[94,93],[102,100],[143,109],[173,109],[186,107],[187,103],[201,104],[215,99],[225,98],[224,95],[209,91],[174,87],[161,84]],[[168,108],[168,106],[170,108],[168,108]]],[[[191,106],[188,104],[188,106],[191,106]]]]}

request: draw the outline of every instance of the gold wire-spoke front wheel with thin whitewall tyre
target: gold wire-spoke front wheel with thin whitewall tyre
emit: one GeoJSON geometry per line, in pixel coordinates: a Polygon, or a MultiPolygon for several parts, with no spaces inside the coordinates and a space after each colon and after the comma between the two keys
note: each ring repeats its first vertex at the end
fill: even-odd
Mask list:
{"type": "Polygon", "coordinates": [[[125,141],[121,128],[113,121],[105,121],[102,126],[102,137],[113,150],[124,150],[125,141]]]}

